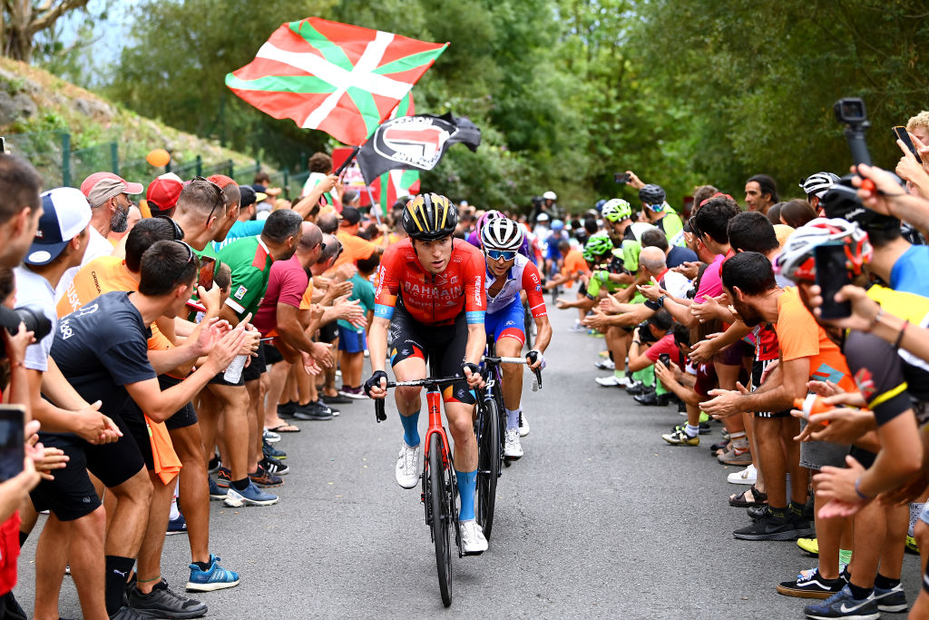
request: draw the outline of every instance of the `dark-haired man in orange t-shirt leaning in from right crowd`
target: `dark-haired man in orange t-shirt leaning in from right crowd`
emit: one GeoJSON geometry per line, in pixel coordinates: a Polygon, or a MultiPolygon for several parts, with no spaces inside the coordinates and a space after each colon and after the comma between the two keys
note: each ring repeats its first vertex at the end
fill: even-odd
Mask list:
{"type": "MultiPolygon", "coordinates": [[[[700,407],[711,416],[726,417],[745,411],[783,411],[793,407],[794,399],[803,399],[808,381],[831,381],[844,391],[856,390],[856,385],[845,363],[844,355],[806,309],[795,287],[781,288],[775,281],[771,261],[757,252],[742,252],[723,263],[723,286],[742,321],[753,327],[773,323],[778,334],[779,364],[767,381],[752,393],[713,389],[713,400],[701,402],[700,407]]],[[[738,387],[738,386],[737,386],[738,387]]],[[[787,446],[789,462],[786,469],[792,472],[792,490],[805,489],[807,469],[830,465],[844,467],[848,446],[826,442],[804,442],[787,446]],[[799,461],[796,467],[793,459],[799,461]]],[[[783,469],[781,469],[783,470],[783,469]]],[[[817,485],[814,484],[814,495],[817,485]]],[[[844,527],[843,519],[816,519],[816,529],[804,516],[803,501],[792,493],[790,506],[775,506],[768,498],[763,517],[754,524],[737,530],[733,535],[743,540],[792,540],[815,534],[819,541],[818,580],[828,582],[834,591],[841,589],[839,579],[839,538],[844,527]]],[[[817,502],[818,503],[818,502],[817,502]]],[[[818,506],[814,514],[818,514],[818,506]]],[[[844,583],[844,582],[843,582],[844,583]]],[[[785,582],[781,587],[790,591],[784,594],[803,596],[794,592],[796,587],[785,582]]],[[[779,587],[779,591],[781,591],[779,587]]]]}

